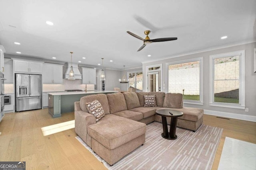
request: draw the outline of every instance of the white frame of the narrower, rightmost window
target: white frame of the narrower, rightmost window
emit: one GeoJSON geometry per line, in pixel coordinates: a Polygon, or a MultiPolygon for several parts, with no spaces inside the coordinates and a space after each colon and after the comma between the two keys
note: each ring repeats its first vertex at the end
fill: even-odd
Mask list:
{"type": "Polygon", "coordinates": [[[217,106],[217,107],[229,107],[235,109],[245,109],[245,50],[240,51],[233,51],[228,53],[221,53],[216,55],[210,55],[210,106],[217,106]],[[213,87],[213,78],[214,78],[214,59],[217,58],[224,58],[230,56],[240,55],[240,73],[241,73],[241,102],[240,104],[234,103],[224,103],[224,102],[214,102],[214,87],[213,87]]]}

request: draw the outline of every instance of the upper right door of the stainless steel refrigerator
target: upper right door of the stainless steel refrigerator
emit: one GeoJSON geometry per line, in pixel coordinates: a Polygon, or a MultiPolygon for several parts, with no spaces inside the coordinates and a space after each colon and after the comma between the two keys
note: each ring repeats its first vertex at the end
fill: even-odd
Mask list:
{"type": "Polygon", "coordinates": [[[42,96],[42,76],[30,74],[30,96],[42,96]]]}

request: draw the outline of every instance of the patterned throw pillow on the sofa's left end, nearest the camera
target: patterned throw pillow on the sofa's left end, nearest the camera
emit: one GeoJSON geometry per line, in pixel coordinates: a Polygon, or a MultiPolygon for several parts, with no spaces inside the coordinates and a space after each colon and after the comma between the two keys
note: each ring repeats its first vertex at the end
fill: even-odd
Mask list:
{"type": "Polygon", "coordinates": [[[105,115],[104,110],[98,100],[86,103],[86,108],[88,109],[90,114],[96,117],[96,122],[99,121],[105,115]]]}

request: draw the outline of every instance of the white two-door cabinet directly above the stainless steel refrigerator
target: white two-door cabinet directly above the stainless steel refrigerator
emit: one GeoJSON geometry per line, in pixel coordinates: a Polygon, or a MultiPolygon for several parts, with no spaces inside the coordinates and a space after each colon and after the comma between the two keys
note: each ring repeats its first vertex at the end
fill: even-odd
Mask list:
{"type": "Polygon", "coordinates": [[[44,62],[13,59],[14,72],[22,73],[42,73],[44,62]]]}

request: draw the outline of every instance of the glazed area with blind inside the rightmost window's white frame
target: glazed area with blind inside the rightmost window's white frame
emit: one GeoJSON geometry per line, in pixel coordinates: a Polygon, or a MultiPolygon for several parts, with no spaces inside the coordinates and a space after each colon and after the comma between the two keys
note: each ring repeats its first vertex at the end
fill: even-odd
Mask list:
{"type": "Polygon", "coordinates": [[[240,56],[214,59],[213,101],[240,104],[240,56]]]}

